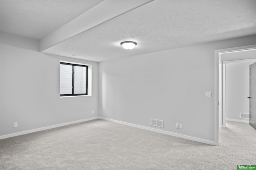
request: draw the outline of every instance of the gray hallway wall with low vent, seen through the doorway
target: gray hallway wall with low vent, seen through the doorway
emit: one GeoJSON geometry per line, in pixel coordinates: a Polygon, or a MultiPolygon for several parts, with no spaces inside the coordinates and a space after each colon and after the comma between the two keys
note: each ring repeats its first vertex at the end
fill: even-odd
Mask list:
{"type": "MultiPolygon", "coordinates": [[[[254,56],[256,58],[256,56],[254,56]]],[[[226,64],[226,118],[242,121],[240,113],[249,113],[249,65],[239,62],[226,64]]]]}

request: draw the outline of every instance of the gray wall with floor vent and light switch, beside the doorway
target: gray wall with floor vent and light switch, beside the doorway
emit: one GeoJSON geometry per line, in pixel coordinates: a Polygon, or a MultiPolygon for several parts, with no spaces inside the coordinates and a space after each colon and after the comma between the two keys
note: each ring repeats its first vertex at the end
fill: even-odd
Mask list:
{"type": "Polygon", "coordinates": [[[160,119],[164,129],[152,128],[215,141],[214,51],[253,44],[256,36],[101,62],[99,116],[146,127],[160,119]]]}

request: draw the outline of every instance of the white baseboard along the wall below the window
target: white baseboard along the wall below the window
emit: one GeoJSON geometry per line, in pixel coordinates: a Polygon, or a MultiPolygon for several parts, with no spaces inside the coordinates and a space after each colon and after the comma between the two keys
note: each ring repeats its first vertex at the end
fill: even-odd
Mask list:
{"type": "Polygon", "coordinates": [[[31,129],[31,130],[28,130],[28,131],[22,131],[22,132],[12,133],[12,134],[8,134],[8,135],[2,135],[2,136],[0,136],[0,139],[6,139],[6,138],[9,138],[9,137],[25,135],[25,134],[28,134],[28,133],[43,131],[43,130],[46,130],[46,129],[52,129],[52,128],[55,128],[55,127],[71,125],[71,124],[74,124],[74,123],[80,123],[80,122],[94,120],[94,119],[98,119],[98,116],[97,117],[91,117],[91,118],[88,118],[88,119],[82,119],[82,120],[76,120],[76,121],[70,121],[70,122],[66,122],[66,123],[61,123],[61,124],[58,124],[58,125],[40,127],[40,128],[37,128],[37,129],[31,129]]]}

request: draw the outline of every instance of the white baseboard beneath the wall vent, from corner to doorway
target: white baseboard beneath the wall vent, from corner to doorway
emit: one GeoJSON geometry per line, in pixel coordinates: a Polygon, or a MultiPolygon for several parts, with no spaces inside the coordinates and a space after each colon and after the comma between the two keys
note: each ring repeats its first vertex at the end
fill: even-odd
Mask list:
{"type": "Polygon", "coordinates": [[[183,138],[183,139],[188,139],[188,140],[191,140],[191,141],[206,143],[206,144],[209,144],[209,145],[216,145],[216,143],[214,141],[208,141],[208,140],[205,140],[205,139],[200,139],[200,138],[191,137],[191,136],[187,136],[187,135],[181,135],[181,134],[178,134],[178,133],[173,133],[173,132],[163,131],[163,130],[159,130],[159,129],[154,129],[154,128],[151,128],[151,127],[135,125],[135,124],[132,124],[132,123],[126,123],[126,122],[123,122],[123,121],[117,121],[117,120],[108,119],[108,118],[104,118],[104,117],[98,117],[98,119],[111,121],[111,122],[114,122],[114,123],[120,123],[120,124],[123,124],[123,125],[132,126],[132,127],[138,127],[140,129],[145,129],[145,130],[149,130],[149,131],[163,133],[163,134],[166,134],[166,135],[171,135],[171,136],[180,137],[180,138],[183,138]]]}

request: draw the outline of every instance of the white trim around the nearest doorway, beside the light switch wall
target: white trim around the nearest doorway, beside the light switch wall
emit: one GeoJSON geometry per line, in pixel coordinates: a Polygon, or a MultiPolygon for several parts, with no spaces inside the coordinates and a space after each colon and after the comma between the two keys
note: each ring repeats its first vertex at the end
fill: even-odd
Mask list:
{"type": "MultiPolygon", "coordinates": [[[[235,51],[241,51],[241,50],[247,50],[247,49],[255,49],[256,48],[256,44],[255,45],[246,45],[246,46],[242,46],[242,47],[234,47],[234,48],[227,48],[227,49],[219,49],[219,50],[215,50],[215,145],[218,146],[219,145],[219,65],[220,65],[220,54],[221,53],[229,53],[229,52],[235,52],[235,51]]],[[[221,61],[221,64],[223,64],[223,61],[221,61]]],[[[222,98],[222,96],[221,96],[222,98]]],[[[223,102],[223,99],[222,99],[223,102]]]]}

